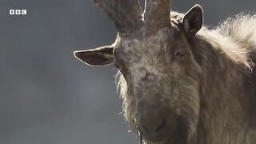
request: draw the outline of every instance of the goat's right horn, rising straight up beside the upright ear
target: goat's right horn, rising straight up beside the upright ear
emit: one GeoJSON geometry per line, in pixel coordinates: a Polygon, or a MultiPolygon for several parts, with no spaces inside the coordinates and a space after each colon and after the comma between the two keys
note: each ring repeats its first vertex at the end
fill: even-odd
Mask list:
{"type": "Polygon", "coordinates": [[[170,25],[171,0],[146,0],[144,20],[147,29],[156,31],[170,25]]]}

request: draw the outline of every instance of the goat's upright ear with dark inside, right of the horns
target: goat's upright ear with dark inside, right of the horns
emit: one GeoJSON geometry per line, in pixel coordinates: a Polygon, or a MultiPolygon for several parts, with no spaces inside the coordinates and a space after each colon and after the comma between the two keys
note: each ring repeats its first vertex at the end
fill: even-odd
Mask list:
{"type": "Polygon", "coordinates": [[[194,5],[182,18],[182,23],[186,33],[194,35],[202,28],[203,10],[200,5],[194,5]]]}

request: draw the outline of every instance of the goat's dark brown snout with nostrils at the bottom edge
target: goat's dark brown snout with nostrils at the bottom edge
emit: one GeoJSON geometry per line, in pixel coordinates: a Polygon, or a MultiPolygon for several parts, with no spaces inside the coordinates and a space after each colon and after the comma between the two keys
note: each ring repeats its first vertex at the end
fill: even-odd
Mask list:
{"type": "Polygon", "coordinates": [[[149,142],[165,142],[174,130],[176,118],[169,107],[149,105],[139,106],[140,133],[149,142]]]}

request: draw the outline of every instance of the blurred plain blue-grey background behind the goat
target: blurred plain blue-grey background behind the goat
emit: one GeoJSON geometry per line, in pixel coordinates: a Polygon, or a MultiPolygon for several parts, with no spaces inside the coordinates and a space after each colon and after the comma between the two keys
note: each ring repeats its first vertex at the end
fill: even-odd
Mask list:
{"type": "MultiPolygon", "coordinates": [[[[195,3],[210,26],[256,8],[255,0],[174,0],[172,10],[195,3]]],[[[116,34],[91,0],[0,0],[0,144],[138,142],[119,114],[114,66],[90,67],[73,56],[112,44],[116,34]]]]}

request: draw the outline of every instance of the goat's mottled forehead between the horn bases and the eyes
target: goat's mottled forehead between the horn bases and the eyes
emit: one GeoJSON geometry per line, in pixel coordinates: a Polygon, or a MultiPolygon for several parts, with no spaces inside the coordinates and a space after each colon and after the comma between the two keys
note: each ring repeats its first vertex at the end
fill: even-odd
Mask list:
{"type": "Polygon", "coordinates": [[[142,32],[139,37],[120,38],[115,51],[125,54],[124,56],[154,58],[156,56],[161,57],[162,54],[177,47],[182,47],[184,43],[184,37],[177,27],[166,27],[150,36],[142,32]]]}

